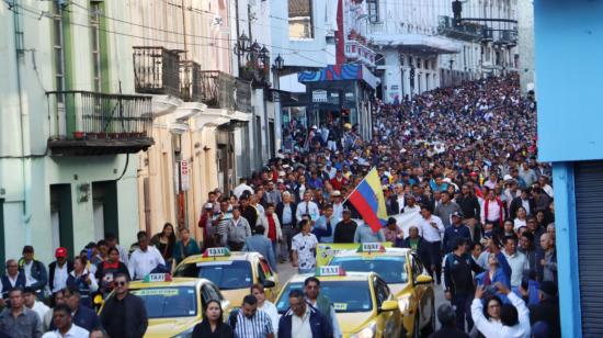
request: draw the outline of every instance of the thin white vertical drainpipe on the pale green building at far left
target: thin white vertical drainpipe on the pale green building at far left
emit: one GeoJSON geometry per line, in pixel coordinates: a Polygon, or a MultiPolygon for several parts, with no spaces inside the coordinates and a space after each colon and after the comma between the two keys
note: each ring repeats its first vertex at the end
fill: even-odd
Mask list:
{"type": "Polygon", "coordinates": [[[23,224],[25,225],[25,243],[32,243],[32,229],[30,221],[31,214],[31,158],[25,155],[26,149],[30,149],[30,120],[27,112],[23,109],[23,88],[21,79],[21,63],[24,63],[24,38],[22,31],[21,14],[19,13],[20,4],[13,0],[13,31],[14,31],[14,52],[16,58],[16,89],[19,93],[19,112],[20,112],[20,132],[21,132],[21,160],[22,160],[22,179],[23,179],[23,224]]]}

